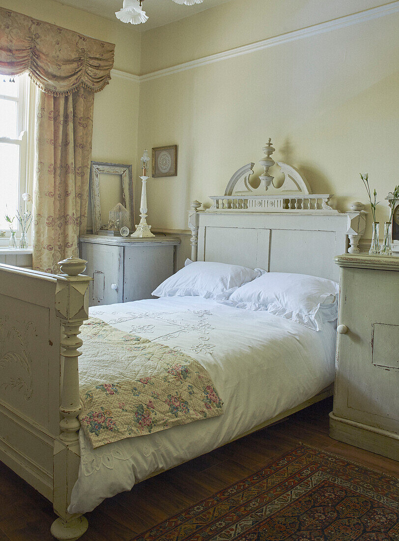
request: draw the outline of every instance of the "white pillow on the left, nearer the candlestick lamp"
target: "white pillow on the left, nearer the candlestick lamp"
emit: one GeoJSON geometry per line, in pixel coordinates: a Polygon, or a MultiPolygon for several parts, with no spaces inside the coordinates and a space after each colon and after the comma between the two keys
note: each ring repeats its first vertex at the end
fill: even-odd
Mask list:
{"type": "Polygon", "coordinates": [[[222,300],[234,292],[237,287],[254,280],[262,274],[261,269],[214,263],[212,261],[187,260],[185,267],[169,276],[158,286],[152,295],[166,296],[201,296],[205,299],[222,300]]]}

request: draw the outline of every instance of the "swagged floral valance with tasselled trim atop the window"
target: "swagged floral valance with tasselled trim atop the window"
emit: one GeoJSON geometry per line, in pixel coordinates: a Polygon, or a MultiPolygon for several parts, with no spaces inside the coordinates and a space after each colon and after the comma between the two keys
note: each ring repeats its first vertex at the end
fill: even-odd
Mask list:
{"type": "Polygon", "coordinates": [[[112,43],[0,8],[0,73],[28,71],[47,94],[102,90],[111,78],[114,49],[112,43]]]}

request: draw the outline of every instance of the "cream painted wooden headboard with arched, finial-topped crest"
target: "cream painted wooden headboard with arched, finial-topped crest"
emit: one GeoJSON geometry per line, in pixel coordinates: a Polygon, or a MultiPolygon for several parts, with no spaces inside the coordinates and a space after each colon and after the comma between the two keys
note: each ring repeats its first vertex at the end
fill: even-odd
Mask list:
{"type": "Polygon", "coordinates": [[[269,139],[258,188],[250,186],[254,163],[249,163],[231,177],[224,195],[211,196],[208,210],[198,210],[198,201],[191,203],[191,259],[338,281],[334,256],[358,252],[366,213],[355,203],[347,213],[332,209],[330,194],[311,194],[307,180],[282,162],[277,165],[284,182],[276,188],[269,175],[274,150],[269,139]]]}

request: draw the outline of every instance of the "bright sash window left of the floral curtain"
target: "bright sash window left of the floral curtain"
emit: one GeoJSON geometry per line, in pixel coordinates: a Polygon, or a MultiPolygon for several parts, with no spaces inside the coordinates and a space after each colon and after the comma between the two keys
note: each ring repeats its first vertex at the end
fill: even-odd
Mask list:
{"type": "MultiPolygon", "coordinates": [[[[26,95],[28,77],[0,75],[0,230],[9,236],[5,214],[15,216],[26,191],[26,95]]],[[[13,222],[18,230],[18,223],[13,222]]]]}

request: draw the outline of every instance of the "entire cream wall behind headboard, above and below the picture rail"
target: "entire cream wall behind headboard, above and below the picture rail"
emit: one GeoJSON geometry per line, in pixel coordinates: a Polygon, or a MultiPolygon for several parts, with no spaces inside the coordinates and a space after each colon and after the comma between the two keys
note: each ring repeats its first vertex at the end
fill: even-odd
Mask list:
{"type": "MultiPolygon", "coordinates": [[[[376,5],[248,0],[243,15],[242,2],[232,0],[144,32],[142,71],[376,5]]],[[[141,82],[138,154],[144,147],[178,144],[178,176],[148,182],[149,223],[186,229],[190,200],[209,204],[208,195],[223,193],[238,167],[261,159],[268,137],[274,157],[304,173],[314,193],[336,194],[339,209],[367,202],[359,177],[364,171],[383,201],[399,182],[398,28],[396,12],[141,82]]],[[[377,218],[387,216],[383,201],[377,218]]],[[[369,219],[365,237],[370,230],[369,219]]]]}

